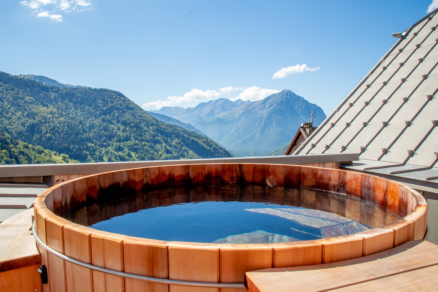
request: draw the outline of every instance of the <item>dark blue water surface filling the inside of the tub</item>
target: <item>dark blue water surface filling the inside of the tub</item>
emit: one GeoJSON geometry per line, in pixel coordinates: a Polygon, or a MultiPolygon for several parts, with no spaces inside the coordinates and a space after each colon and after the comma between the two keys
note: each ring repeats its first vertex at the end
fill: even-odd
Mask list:
{"type": "MultiPolygon", "coordinates": [[[[199,208],[199,206],[195,207],[199,208]]],[[[81,225],[93,225],[92,227],[96,229],[131,236],[147,238],[155,236],[154,239],[215,243],[272,243],[325,238],[353,234],[372,227],[381,227],[399,219],[398,215],[386,208],[356,197],[300,187],[269,187],[255,184],[198,184],[132,193],[119,191],[110,197],[102,194],[99,202],[82,205],[65,213],[63,217],[81,225]],[[114,199],[115,197],[116,199],[114,199]],[[243,205],[236,203],[237,205],[233,208],[244,210],[243,215],[240,215],[233,213],[230,204],[212,205],[200,202],[263,204],[243,205]],[[178,205],[188,203],[202,205],[201,215],[191,214],[194,212],[194,209],[191,209],[194,206],[186,206],[184,209],[178,205]],[[170,207],[157,208],[165,206],[170,207]],[[155,209],[149,210],[152,208],[155,209]],[[142,217],[142,223],[135,223],[140,219],[135,219],[132,216],[125,216],[126,218],[122,216],[140,210],[156,213],[148,215],[152,217],[142,217]],[[117,218],[119,223],[116,220],[110,223],[106,222],[106,220],[118,216],[125,219],[117,218]],[[211,230],[212,228],[208,226],[194,225],[193,229],[183,232],[182,230],[186,227],[185,223],[172,221],[175,220],[175,218],[171,218],[172,216],[180,216],[181,218],[185,216],[184,218],[188,218],[187,220],[194,221],[196,224],[200,221],[205,221],[207,224],[208,220],[211,220],[210,224],[219,224],[219,227],[214,227],[215,230],[211,230]],[[222,221],[225,219],[233,222],[222,221]],[[98,222],[106,223],[96,225],[98,222]],[[234,229],[231,229],[232,231],[222,228],[222,226],[229,227],[236,222],[238,224],[233,227],[234,229]],[[254,222],[254,224],[251,225],[250,222],[254,222]],[[163,226],[159,227],[160,224],[163,226]],[[106,227],[99,228],[103,225],[106,227]],[[133,227],[128,227],[130,225],[133,227]],[[148,232],[151,233],[148,235],[137,233],[140,232],[140,225],[142,228],[148,227],[148,232]],[[117,228],[121,229],[115,230],[117,228]],[[132,233],[129,233],[130,228],[132,233]],[[153,228],[157,230],[154,231],[153,228]],[[163,229],[166,230],[163,231],[163,229]],[[194,229],[197,232],[193,232],[194,229]],[[178,235],[180,230],[182,234],[178,235]],[[167,235],[163,232],[173,234],[173,237],[166,237],[167,235]],[[201,237],[196,237],[184,233],[203,234],[201,237]]]]}

